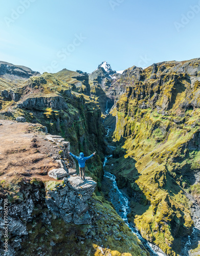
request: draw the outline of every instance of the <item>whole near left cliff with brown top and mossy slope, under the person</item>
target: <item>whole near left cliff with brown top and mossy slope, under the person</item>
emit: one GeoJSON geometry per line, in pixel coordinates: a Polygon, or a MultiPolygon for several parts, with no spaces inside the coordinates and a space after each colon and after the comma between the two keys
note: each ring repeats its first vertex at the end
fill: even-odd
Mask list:
{"type": "Polygon", "coordinates": [[[38,123],[1,120],[1,255],[149,255],[112,205],[93,194],[96,182],[76,175],[69,142],[46,132],[38,123]]]}

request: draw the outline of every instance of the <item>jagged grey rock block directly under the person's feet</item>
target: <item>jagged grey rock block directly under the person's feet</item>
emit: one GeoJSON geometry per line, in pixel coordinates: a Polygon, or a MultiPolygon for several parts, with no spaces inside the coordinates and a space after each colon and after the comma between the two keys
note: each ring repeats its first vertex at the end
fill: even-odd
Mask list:
{"type": "Polygon", "coordinates": [[[79,176],[64,178],[62,185],[48,190],[46,184],[46,204],[48,208],[66,223],[90,224],[87,200],[92,196],[97,183],[90,177],[83,181],[79,176]]]}

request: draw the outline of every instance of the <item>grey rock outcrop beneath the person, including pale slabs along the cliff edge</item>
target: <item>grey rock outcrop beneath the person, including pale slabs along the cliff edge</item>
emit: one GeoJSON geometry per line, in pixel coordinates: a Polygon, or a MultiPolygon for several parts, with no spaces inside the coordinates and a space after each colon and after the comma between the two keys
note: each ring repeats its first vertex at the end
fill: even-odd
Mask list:
{"type": "Polygon", "coordinates": [[[86,177],[83,181],[76,175],[76,170],[73,176],[69,175],[69,173],[73,173],[70,166],[76,168],[74,159],[68,154],[70,142],[63,141],[61,136],[56,135],[47,135],[46,138],[62,148],[61,159],[57,160],[60,163],[60,168],[50,170],[48,175],[56,180],[63,179],[63,183],[58,187],[52,188],[51,181],[46,183],[48,208],[66,223],[90,224],[92,219],[87,211],[88,204],[86,201],[91,198],[97,183],[90,177],[86,177]]]}

